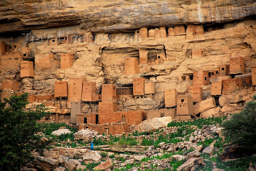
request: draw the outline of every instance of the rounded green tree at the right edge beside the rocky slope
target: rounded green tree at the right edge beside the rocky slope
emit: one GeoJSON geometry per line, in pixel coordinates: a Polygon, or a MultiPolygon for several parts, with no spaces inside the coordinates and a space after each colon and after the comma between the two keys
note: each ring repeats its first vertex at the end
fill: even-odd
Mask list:
{"type": "Polygon", "coordinates": [[[238,143],[245,148],[256,148],[256,95],[246,103],[240,113],[235,113],[229,120],[222,123],[223,135],[232,143],[238,143]]]}

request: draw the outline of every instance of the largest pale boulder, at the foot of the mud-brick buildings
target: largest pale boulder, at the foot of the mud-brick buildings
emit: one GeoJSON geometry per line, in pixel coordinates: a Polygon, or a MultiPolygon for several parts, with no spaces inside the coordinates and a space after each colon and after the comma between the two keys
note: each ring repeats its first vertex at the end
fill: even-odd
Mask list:
{"type": "Polygon", "coordinates": [[[152,118],[152,119],[147,119],[137,125],[133,131],[138,131],[138,132],[150,132],[150,131],[155,131],[157,129],[161,129],[163,127],[166,127],[169,122],[172,121],[172,117],[167,116],[167,117],[159,117],[159,118],[152,118]]]}

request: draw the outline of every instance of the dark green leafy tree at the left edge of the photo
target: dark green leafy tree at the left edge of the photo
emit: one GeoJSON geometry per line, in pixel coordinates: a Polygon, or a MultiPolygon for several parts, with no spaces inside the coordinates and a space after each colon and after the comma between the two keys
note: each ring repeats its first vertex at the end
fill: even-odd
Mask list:
{"type": "Polygon", "coordinates": [[[45,145],[41,142],[37,120],[49,114],[43,104],[34,110],[25,109],[28,94],[4,98],[0,102],[0,170],[13,171],[33,160],[31,152],[42,153],[45,145]]]}

